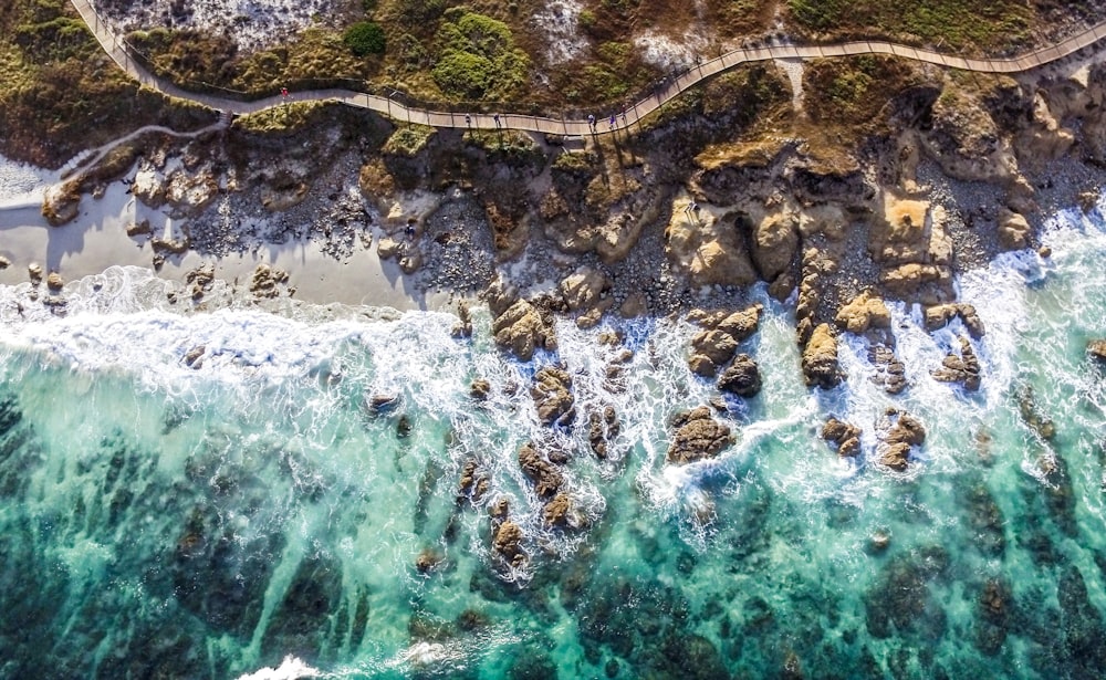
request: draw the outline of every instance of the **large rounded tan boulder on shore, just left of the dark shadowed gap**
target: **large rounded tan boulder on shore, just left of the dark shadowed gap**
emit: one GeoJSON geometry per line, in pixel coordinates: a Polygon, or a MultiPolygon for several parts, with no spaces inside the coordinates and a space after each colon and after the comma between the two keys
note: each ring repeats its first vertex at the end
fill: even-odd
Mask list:
{"type": "Polygon", "coordinates": [[[665,252],[674,269],[692,285],[750,285],[757,281],[735,217],[718,219],[711,207],[688,211],[688,201],[676,201],[665,231],[665,252]]]}

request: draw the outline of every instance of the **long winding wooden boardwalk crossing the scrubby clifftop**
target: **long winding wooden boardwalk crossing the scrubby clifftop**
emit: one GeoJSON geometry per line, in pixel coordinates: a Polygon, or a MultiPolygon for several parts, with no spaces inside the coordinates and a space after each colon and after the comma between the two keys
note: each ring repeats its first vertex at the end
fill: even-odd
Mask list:
{"type": "MultiPolygon", "coordinates": [[[[104,51],[107,52],[112,60],[114,60],[115,63],[131,76],[147,87],[152,87],[170,96],[196,102],[210,108],[236,114],[254,113],[273,106],[280,106],[285,103],[285,100],[280,96],[257,100],[253,102],[238,102],[230,98],[181,90],[166,79],[155,76],[142,64],[137,63],[127,52],[126,44],[118,38],[117,34],[112,32],[109,24],[96,14],[96,11],[93,9],[90,0],[71,0],[71,2],[84,19],[85,23],[88,24],[90,30],[92,30],[96,40],[104,48],[104,51]]],[[[382,113],[395,121],[429,125],[432,127],[473,127],[483,129],[504,128],[554,135],[604,134],[634,126],[641,118],[660,108],[662,104],[678,96],[681,92],[691,87],[699,81],[732,69],[739,64],[750,62],[761,62],[775,59],[808,60],[827,56],[849,56],[854,54],[889,54],[930,64],[937,64],[939,66],[961,69],[964,71],[978,71],[983,73],[1016,73],[1057,61],[1103,39],[1106,39],[1106,22],[1086,29],[1085,31],[1055,45],[1041,48],[1040,50],[1011,59],[967,59],[880,41],[846,42],[834,45],[773,45],[769,48],[733,50],[717,59],[703,62],[686,71],[676,80],[669,81],[664,87],[657,90],[655,94],[639,102],[635,102],[617,118],[597,121],[594,128],[589,127],[587,121],[566,121],[518,114],[492,115],[472,113],[466,115],[463,112],[458,113],[410,108],[388,97],[352,92],[348,90],[295,92],[292,94],[291,98],[295,101],[328,100],[342,102],[351,106],[359,106],[362,108],[368,108],[377,113],[382,113]]]]}

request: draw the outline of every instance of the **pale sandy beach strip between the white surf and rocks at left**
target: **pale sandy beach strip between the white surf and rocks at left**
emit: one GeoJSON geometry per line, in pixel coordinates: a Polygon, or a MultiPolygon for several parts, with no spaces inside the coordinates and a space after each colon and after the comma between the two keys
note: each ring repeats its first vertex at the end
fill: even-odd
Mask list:
{"type": "MultiPolygon", "coordinates": [[[[41,192],[53,174],[4,158],[0,158],[0,255],[11,262],[0,270],[0,284],[28,281],[27,268],[32,262],[46,272],[56,271],[66,281],[98,274],[112,265],[152,268],[149,237],[131,238],[127,227],[147,220],[158,234],[180,226],[161,210],[135,200],[122,182],[113,182],[102,198],[82,199],[76,220],[53,228],[40,213],[41,192]]],[[[191,251],[169,255],[159,275],[179,281],[188,271],[211,262],[218,278],[244,284],[259,264],[267,263],[286,271],[295,299],[305,302],[399,311],[445,306],[448,294],[425,295],[395,262],[380,261],[376,254],[379,236],[374,233],[368,247],[358,243],[353,254],[341,262],[323,253],[319,244],[299,241],[223,259],[204,258],[191,251]]]]}

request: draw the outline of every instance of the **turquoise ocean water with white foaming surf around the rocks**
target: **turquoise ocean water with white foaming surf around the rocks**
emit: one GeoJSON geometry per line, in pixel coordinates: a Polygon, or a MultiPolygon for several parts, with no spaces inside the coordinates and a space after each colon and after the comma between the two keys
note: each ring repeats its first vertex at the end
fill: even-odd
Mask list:
{"type": "Polygon", "coordinates": [[[520,364],[479,311],[457,339],[437,313],[181,315],[142,270],[74,285],[62,317],[0,289],[0,677],[1103,677],[1103,205],[1044,240],[1047,261],[959,282],[988,328],[975,394],[929,377],[959,322],[927,334],[901,305],[906,393],[870,383],[857,338],[847,383],[807,390],[765,297],[743,347],[764,389],[730,401],[732,448],[685,468],[667,422],[714,393],[682,323],[620,323],[620,347],[563,324],[557,355],[520,364]],[[553,360],[568,428],[528,394],[553,360]],[[373,412],[375,395],[399,398],[373,412]],[[607,406],[598,460],[587,415],[607,406]],[[889,406],[928,430],[902,473],[875,462],[889,406]],[[830,415],[865,429],[857,459],[818,439],[830,415]],[[567,454],[580,529],[544,526],[531,440],[567,454]],[[470,461],[477,503],[458,500],[470,461]],[[490,554],[503,498],[523,568],[490,554]]]}

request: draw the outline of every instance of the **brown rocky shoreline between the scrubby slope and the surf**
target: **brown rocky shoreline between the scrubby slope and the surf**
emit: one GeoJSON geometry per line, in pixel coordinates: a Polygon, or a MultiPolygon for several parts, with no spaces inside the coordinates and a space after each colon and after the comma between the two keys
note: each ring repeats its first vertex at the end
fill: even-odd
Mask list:
{"type": "MultiPolygon", "coordinates": [[[[982,328],[957,306],[953,278],[1034,248],[1050,207],[1100,189],[1106,66],[972,83],[911,69],[877,127],[830,150],[794,136],[817,114],[793,108],[771,64],[690,93],[680,115],[606,137],[404,127],[338,106],[313,107],[292,130],[236,123],[187,143],[154,136],[132,149],[124,176],[179,227],[135,224],[128,236],[149,243],[155,268],[304,240],[337,260],[375,247],[418,290],[486,300],[497,342],[521,359],[556,346],[555,315],[587,327],[605,314],[707,310],[689,318],[719,323],[762,282],[794,302],[805,379],[822,388],[841,379],[841,333],[868,337],[887,390],[906,388],[883,301],[918,303],[927,325],[959,317],[969,328],[935,375],[973,389],[982,328]],[[750,83],[759,98],[739,106],[750,83]]],[[[48,191],[43,215],[64,223],[105,180],[79,174],[48,191]]],[[[748,337],[710,325],[689,353],[702,376],[748,337]]],[[[754,383],[739,378],[739,389],[754,383]]]]}

